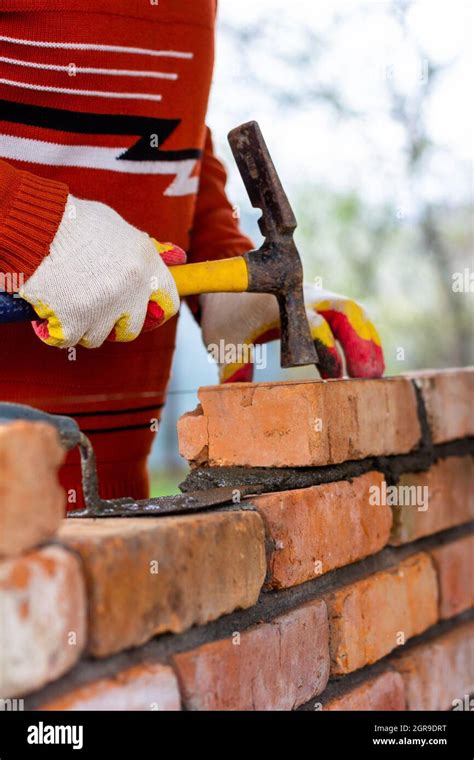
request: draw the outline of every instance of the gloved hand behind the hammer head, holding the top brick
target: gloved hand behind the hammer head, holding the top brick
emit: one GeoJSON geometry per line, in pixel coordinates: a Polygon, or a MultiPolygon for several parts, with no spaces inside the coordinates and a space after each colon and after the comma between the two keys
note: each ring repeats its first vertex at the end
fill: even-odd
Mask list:
{"type": "MultiPolygon", "coordinates": [[[[306,315],[319,356],[323,378],[341,377],[340,343],[350,377],[381,377],[384,360],[380,338],[366,312],[355,301],[317,288],[304,287],[306,315]]],[[[204,344],[256,345],[279,337],[276,298],[263,293],[209,293],[201,296],[204,344]]],[[[232,352],[229,352],[230,354],[232,352]]],[[[220,381],[250,381],[251,363],[219,364],[220,381]]]]}

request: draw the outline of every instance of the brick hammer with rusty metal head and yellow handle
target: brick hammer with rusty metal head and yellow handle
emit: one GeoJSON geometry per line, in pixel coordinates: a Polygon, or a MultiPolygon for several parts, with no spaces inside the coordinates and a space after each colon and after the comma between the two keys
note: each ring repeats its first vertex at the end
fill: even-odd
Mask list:
{"type": "MultiPolygon", "coordinates": [[[[264,242],[243,256],[170,267],[180,296],[201,293],[273,293],[280,311],[281,366],[316,364],[303,297],[303,267],[293,233],[296,219],[256,121],[228,135],[264,242]]],[[[0,324],[38,315],[26,301],[0,293],[0,324]]]]}

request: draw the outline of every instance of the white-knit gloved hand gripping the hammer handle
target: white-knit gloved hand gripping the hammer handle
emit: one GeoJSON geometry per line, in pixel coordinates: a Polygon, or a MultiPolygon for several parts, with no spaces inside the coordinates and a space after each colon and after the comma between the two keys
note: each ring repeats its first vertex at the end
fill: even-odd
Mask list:
{"type": "Polygon", "coordinates": [[[185,260],[181,248],[153,241],[109,206],[70,195],[48,256],[19,294],[41,318],[33,328],[50,346],[131,341],[176,314],[166,264],[185,260]]]}

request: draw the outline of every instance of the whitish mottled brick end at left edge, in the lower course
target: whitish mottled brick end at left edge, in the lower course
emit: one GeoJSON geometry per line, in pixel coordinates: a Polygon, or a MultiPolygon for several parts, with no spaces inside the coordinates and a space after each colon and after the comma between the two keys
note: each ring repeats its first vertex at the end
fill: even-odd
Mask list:
{"type": "Polygon", "coordinates": [[[79,659],[86,636],[80,562],[50,546],[0,562],[0,697],[41,688],[79,659]]]}

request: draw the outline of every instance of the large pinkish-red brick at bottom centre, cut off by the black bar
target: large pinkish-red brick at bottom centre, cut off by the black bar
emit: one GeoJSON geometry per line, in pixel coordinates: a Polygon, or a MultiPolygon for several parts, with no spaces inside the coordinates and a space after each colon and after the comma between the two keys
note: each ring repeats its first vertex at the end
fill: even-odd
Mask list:
{"type": "Polygon", "coordinates": [[[315,601],[230,639],[174,655],[188,710],[292,710],[329,674],[326,605],[315,601]]]}

